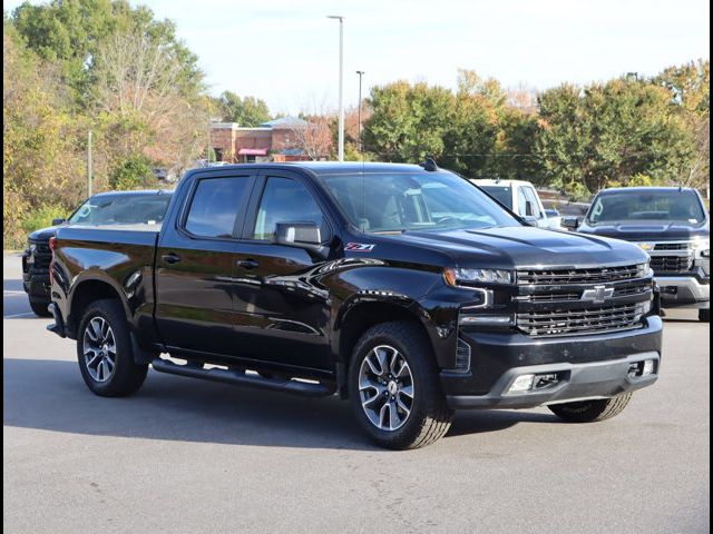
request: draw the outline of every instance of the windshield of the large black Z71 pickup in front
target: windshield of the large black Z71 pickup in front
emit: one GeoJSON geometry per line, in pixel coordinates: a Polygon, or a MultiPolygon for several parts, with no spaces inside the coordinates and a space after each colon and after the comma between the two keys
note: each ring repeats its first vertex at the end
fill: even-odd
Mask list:
{"type": "Polygon", "coordinates": [[[477,187],[450,172],[333,175],[322,180],[363,231],[520,226],[477,187]]]}

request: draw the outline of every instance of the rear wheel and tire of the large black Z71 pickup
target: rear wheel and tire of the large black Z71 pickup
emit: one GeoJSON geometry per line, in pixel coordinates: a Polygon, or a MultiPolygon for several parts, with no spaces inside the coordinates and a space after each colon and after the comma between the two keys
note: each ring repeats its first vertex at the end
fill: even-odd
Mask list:
{"type": "Polygon", "coordinates": [[[97,300],[85,312],[77,332],[77,359],[87,387],[97,395],[135,393],[148,370],[134,360],[124,308],[117,300],[97,300]]]}

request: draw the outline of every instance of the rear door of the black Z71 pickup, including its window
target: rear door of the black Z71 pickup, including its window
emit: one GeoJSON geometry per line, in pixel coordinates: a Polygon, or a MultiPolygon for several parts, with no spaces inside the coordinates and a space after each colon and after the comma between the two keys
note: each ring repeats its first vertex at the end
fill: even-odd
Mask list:
{"type": "Polygon", "coordinates": [[[156,324],[169,349],[236,355],[232,275],[255,176],[197,176],[158,244],[156,324]]]}

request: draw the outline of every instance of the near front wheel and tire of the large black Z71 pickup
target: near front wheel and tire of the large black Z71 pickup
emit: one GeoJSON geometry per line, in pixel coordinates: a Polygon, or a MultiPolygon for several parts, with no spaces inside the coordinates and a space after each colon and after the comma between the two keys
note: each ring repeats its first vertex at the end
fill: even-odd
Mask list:
{"type": "Polygon", "coordinates": [[[350,404],[367,434],[394,449],[419,448],[450,428],[438,368],[423,332],[412,323],[373,326],[354,348],[350,404]]]}

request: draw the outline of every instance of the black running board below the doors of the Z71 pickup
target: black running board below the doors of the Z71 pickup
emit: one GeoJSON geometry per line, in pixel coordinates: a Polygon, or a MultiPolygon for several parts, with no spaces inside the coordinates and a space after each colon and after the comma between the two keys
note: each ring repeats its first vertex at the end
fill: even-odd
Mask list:
{"type": "Polygon", "coordinates": [[[221,368],[203,369],[189,365],[178,365],[164,358],[154,358],[152,367],[159,373],[167,373],[169,375],[203,378],[204,380],[223,382],[225,384],[256,387],[260,389],[272,389],[307,397],[325,397],[328,395],[332,395],[335,390],[333,387],[331,388],[321,383],[311,384],[289,378],[263,378],[258,375],[246,375],[242,370],[221,368]]]}

